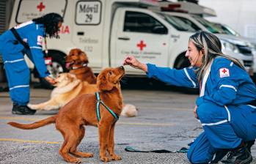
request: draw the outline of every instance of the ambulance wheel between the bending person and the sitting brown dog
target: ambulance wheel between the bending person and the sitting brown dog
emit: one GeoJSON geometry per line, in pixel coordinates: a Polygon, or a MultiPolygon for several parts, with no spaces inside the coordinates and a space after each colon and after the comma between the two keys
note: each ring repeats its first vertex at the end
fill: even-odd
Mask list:
{"type": "MultiPolygon", "coordinates": [[[[53,78],[56,78],[59,73],[67,72],[65,67],[65,58],[59,53],[50,53],[48,56],[51,56],[52,64],[47,65],[47,70],[51,73],[53,78]]],[[[44,89],[53,89],[54,86],[48,81],[45,81],[45,78],[40,78],[40,84],[44,89]]]]}

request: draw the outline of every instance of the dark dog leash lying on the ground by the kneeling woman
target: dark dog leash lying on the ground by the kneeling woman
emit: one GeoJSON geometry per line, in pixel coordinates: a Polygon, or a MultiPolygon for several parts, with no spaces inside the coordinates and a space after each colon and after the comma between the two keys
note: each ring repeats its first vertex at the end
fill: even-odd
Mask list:
{"type": "Polygon", "coordinates": [[[126,146],[125,147],[125,151],[126,152],[154,152],[154,153],[175,153],[175,152],[180,152],[180,153],[187,153],[188,152],[188,148],[186,147],[182,147],[181,149],[179,150],[176,150],[176,151],[169,151],[169,150],[166,150],[166,149],[158,149],[158,150],[139,150],[139,149],[135,149],[134,147],[131,147],[131,146],[126,146]]]}

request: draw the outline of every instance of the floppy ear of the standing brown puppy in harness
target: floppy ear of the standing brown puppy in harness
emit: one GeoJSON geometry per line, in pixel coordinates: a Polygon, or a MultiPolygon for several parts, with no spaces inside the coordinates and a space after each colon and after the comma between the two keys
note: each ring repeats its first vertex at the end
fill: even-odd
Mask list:
{"type": "Polygon", "coordinates": [[[101,73],[97,78],[97,88],[100,91],[110,91],[114,85],[108,81],[109,75],[107,73],[101,73]]]}

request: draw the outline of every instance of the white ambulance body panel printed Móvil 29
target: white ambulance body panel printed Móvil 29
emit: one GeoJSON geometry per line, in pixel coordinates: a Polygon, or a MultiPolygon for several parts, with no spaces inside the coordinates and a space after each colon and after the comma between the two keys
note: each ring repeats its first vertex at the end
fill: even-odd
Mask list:
{"type": "Polygon", "coordinates": [[[105,1],[77,1],[73,43],[89,57],[89,67],[100,70],[103,62],[103,13],[105,1]]]}

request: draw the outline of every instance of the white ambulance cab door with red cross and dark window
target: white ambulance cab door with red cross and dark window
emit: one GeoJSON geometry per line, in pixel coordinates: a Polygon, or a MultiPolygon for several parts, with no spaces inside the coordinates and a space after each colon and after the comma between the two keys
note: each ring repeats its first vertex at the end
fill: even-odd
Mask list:
{"type": "MultiPolygon", "coordinates": [[[[167,67],[168,32],[166,22],[155,12],[140,8],[117,9],[111,31],[111,66],[119,66],[125,56],[131,55],[141,62],[167,67]]],[[[127,70],[131,74],[139,72],[131,67],[127,70]]]]}

